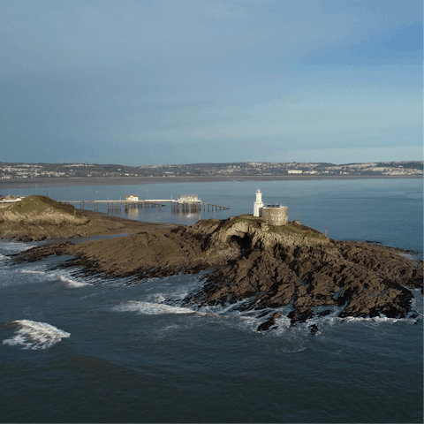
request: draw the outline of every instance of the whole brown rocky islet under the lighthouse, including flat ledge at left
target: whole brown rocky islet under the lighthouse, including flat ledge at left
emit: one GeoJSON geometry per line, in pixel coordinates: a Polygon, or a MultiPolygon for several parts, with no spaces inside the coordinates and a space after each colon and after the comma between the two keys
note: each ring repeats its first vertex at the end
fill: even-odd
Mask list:
{"type": "Polygon", "coordinates": [[[269,320],[259,330],[274,328],[280,316],[275,308],[288,305],[292,324],[329,314],[326,307],[339,307],[340,317],[414,317],[412,290],[424,294],[424,263],[409,259],[405,251],[328,239],[299,223],[270,226],[246,215],[201,220],[191,227],[137,223],[136,231],[114,239],[34,247],[13,256],[11,264],[68,254],[74,258],[64,267],[105,277],[133,276],[134,284],[206,270],[202,289],[182,304],[244,300],[243,310],[268,311],[269,320]]]}

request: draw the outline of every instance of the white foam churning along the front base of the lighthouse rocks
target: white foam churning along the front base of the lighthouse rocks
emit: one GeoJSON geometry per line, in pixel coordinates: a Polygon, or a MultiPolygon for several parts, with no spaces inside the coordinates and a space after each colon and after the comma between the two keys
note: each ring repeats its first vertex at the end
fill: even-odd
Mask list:
{"type": "MultiPolygon", "coordinates": [[[[340,325],[341,323],[354,323],[362,322],[362,325],[387,325],[387,324],[411,324],[417,322],[417,319],[412,318],[410,315],[415,314],[417,311],[419,317],[422,317],[421,305],[424,301],[421,301],[422,296],[420,291],[417,289],[414,292],[413,299],[413,312],[406,318],[388,318],[383,314],[381,316],[357,318],[357,317],[345,317],[339,318],[337,315],[340,314],[344,307],[335,306],[323,306],[314,307],[315,315],[313,318],[307,320],[307,322],[298,322],[292,326],[291,319],[287,315],[292,311],[292,302],[284,307],[268,308],[264,310],[252,310],[249,309],[250,304],[254,300],[244,299],[239,300],[234,304],[225,303],[224,305],[209,305],[199,306],[198,304],[186,305],[186,299],[188,296],[194,297],[199,291],[199,288],[204,284],[199,278],[193,278],[187,276],[183,280],[183,284],[170,284],[173,283],[172,278],[178,278],[178,276],[169,276],[163,279],[149,279],[149,286],[144,291],[145,297],[139,298],[140,301],[125,301],[113,310],[116,312],[134,312],[136,314],[186,314],[194,317],[203,317],[205,319],[211,319],[213,322],[218,322],[231,328],[239,328],[242,330],[252,331],[253,333],[261,333],[267,337],[291,337],[293,340],[302,337],[310,337],[311,328],[310,326],[316,324],[318,330],[314,332],[315,336],[322,335],[325,333],[325,329],[329,327],[340,325]],[[418,298],[418,301],[416,300],[418,298]],[[166,303],[165,303],[166,302],[166,303]],[[171,305],[167,304],[170,303],[171,305]],[[416,305],[417,303],[417,305],[416,305]],[[420,305],[418,305],[420,303],[420,305]],[[246,305],[245,305],[246,304],[246,305]],[[246,309],[245,309],[246,307],[246,309]],[[330,314],[319,316],[320,312],[324,312],[329,309],[330,314]],[[276,319],[276,327],[271,331],[258,332],[258,327],[262,322],[267,322],[271,314],[279,312],[282,314],[280,318],[276,319]]],[[[178,281],[179,283],[179,281],[178,281]]],[[[414,315],[413,315],[414,316],[414,315]]],[[[184,322],[184,320],[183,320],[184,322]]],[[[193,325],[193,320],[188,320],[184,325],[193,325]]],[[[299,339],[300,339],[299,338],[299,339]]],[[[294,342],[293,342],[294,343],[294,342]]],[[[296,345],[296,344],[295,344],[296,345]]],[[[299,347],[299,346],[298,346],[299,347]]],[[[296,349],[298,348],[296,347],[296,349]]],[[[303,347],[302,347],[303,349],[303,347]]],[[[296,351],[297,352],[297,351],[296,351]]]]}

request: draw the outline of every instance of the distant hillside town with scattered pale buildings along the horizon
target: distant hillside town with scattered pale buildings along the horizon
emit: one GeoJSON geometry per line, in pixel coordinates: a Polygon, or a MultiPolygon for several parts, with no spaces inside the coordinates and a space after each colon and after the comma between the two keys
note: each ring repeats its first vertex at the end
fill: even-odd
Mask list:
{"type": "Polygon", "coordinates": [[[0,163],[0,179],[186,176],[422,176],[423,161],[369,163],[188,163],[125,166],[94,163],[0,163]]]}

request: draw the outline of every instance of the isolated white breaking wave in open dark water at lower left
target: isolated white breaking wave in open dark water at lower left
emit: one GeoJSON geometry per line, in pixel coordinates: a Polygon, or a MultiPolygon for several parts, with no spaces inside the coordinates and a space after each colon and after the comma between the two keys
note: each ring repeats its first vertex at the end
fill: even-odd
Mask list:
{"type": "Polygon", "coordinates": [[[57,329],[53,325],[45,322],[34,322],[29,320],[20,320],[11,322],[19,326],[14,337],[6,338],[4,345],[22,345],[23,349],[33,351],[48,349],[56,345],[64,337],[70,337],[71,334],[63,329],[57,329]]]}

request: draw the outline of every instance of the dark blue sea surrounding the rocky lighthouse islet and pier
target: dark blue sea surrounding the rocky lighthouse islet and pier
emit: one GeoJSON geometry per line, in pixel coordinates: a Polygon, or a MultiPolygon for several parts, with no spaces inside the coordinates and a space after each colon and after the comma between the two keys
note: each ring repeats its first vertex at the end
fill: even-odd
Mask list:
{"type": "MultiPolygon", "coordinates": [[[[10,193],[57,201],[197,193],[231,208],[110,211],[193,224],[252,213],[257,188],[264,202],[287,206],[290,220],[332,239],[379,242],[424,259],[422,178],[11,186],[10,193]]],[[[282,318],[261,334],[261,318],[234,305],[178,306],[201,275],[131,284],[58,269],[69,257],[9,266],[10,254],[38,244],[0,240],[2,423],[424,423],[420,291],[413,292],[418,319],[341,320],[335,309],[294,327],[282,318]]]]}

